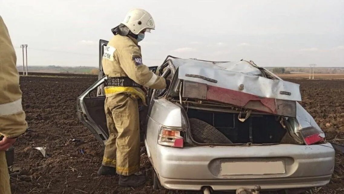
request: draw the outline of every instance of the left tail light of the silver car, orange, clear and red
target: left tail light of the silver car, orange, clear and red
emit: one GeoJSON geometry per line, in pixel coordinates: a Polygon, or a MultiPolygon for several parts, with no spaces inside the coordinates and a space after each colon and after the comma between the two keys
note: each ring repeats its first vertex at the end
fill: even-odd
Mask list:
{"type": "Polygon", "coordinates": [[[184,131],[180,128],[161,126],[158,144],[170,147],[184,146],[184,131]]]}

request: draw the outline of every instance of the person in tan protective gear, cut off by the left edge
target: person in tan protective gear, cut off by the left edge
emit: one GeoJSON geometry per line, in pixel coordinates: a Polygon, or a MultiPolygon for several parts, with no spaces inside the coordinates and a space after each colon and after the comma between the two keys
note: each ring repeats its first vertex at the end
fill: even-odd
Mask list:
{"type": "Polygon", "coordinates": [[[25,132],[17,58],[7,27],[0,16],[0,193],[11,194],[5,151],[25,132]],[[2,140],[1,140],[2,139],[2,140]]]}

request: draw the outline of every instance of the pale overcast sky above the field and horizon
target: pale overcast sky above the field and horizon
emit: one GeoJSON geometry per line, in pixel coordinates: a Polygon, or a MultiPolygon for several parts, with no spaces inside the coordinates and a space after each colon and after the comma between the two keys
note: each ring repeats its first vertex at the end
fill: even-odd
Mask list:
{"type": "Polygon", "coordinates": [[[0,0],[22,64],[97,66],[98,41],[127,11],[142,8],[156,29],[140,42],[143,63],[167,55],[260,66],[344,67],[344,1],[339,0],[0,0]]]}

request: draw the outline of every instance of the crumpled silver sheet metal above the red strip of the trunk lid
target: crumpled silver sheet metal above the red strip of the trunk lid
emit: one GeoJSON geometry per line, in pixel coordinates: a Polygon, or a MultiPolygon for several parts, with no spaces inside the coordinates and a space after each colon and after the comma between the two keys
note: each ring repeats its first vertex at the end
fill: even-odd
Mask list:
{"type": "Polygon", "coordinates": [[[171,61],[176,68],[179,68],[178,78],[182,80],[205,83],[262,98],[301,101],[299,84],[262,77],[260,70],[246,61],[226,63],[191,59],[171,59],[171,61]],[[190,77],[187,74],[197,76],[190,77]],[[215,79],[217,83],[207,79],[215,79]]]}

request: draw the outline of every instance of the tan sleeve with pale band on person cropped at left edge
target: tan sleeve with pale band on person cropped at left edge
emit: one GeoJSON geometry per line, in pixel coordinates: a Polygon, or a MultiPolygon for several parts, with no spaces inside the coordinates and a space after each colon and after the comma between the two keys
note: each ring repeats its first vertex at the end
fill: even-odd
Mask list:
{"type": "Polygon", "coordinates": [[[10,35],[0,16],[0,135],[7,137],[17,137],[27,127],[16,62],[10,35]]]}

